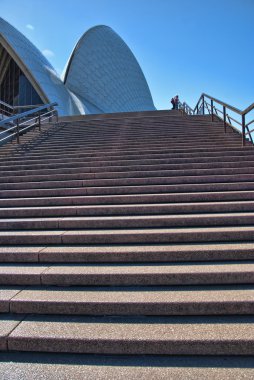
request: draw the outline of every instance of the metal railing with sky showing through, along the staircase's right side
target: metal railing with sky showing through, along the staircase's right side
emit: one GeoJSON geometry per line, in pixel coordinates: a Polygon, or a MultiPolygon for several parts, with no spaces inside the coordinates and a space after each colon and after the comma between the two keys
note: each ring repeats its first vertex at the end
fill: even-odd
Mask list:
{"type": "MultiPolygon", "coordinates": [[[[250,112],[254,110],[254,103],[252,103],[245,110],[241,111],[236,107],[233,107],[221,100],[218,100],[210,95],[202,94],[194,108],[194,114],[205,115],[208,112],[211,115],[212,121],[216,118],[223,121],[224,132],[227,132],[227,126],[230,126],[238,133],[242,134],[242,145],[246,144],[246,137],[248,136],[253,144],[253,138],[251,133],[254,128],[250,130],[250,125],[254,123],[254,119],[251,119],[250,112]],[[234,113],[234,117],[231,113],[234,113]],[[247,115],[249,120],[247,120],[247,115]],[[240,126],[240,130],[239,130],[240,126]]],[[[253,117],[253,116],[252,116],[253,117]]]]}

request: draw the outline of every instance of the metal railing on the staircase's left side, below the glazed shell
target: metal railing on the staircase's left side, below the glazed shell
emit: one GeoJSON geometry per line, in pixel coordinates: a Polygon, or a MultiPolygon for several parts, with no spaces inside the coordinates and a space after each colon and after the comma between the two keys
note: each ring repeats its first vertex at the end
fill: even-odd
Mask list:
{"type": "Polygon", "coordinates": [[[57,103],[44,104],[33,110],[22,112],[0,121],[0,128],[5,128],[4,131],[0,132],[0,145],[15,137],[19,144],[20,134],[24,134],[35,127],[38,127],[39,131],[41,131],[42,123],[45,120],[51,120],[53,116],[58,121],[58,112],[53,108],[54,106],[57,106],[57,103]]]}

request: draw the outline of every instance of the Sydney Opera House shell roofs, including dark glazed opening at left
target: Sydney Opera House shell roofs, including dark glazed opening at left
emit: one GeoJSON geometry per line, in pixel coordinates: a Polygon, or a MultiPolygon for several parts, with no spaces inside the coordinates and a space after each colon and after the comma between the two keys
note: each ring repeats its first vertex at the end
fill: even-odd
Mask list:
{"type": "Polygon", "coordinates": [[[109,27],[89,29],[67,62],[63,80],[44,55],[0,18],[0,100],[58,103],[60,115],[154,110],[144,74],[109,27]]]}

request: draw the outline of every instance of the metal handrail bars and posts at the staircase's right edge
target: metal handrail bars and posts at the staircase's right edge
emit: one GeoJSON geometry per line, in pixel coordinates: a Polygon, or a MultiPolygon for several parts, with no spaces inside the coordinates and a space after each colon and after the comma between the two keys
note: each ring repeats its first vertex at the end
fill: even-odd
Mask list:
{"type": "MultiPolygon", "coordinates": [[[[251,136],[251,131],[249,131],[249,125],[254,122],[254,120],[251,120],[250,122],[246,123],[246,115],[254,110],[254,103],[252,103],[249,107],[245,108],[245,110],[241,111],[236,107],[231,106],[230,104],[227,104],[219,99],[214,98],[213,96],[207,95],[205,93],[201,94],[195,108],[194,108],[194,114],[203,114],[205,115],[205,111],[208,110],[209,114],[212,117],[212,121],[214,121],[214,112],[216,113],[216,117],[223,121],[224,124],[224,132],[227,132],[227,126],[230,126],[231,128],[234,128],[232,125],[232,121],[237,123],[241,126],[241,133],[242,133],[242,145],[244,146],[246,144],[246,136],[249,135],[250,140],[253,144],[253,139],[251,136]],[[207,102],[207,99],[210,100],[210,104],[207,102]],[[217,107],[215,107],[214,103],[217,103],[223,107],[223,111],[219,110],[217,107]],[[233,118],[232,116],[228,115],[228,110],[235,112],[236,114],[241,116],[241,122],[233,118]],[[220,117],[218,115],[218,112],[223,114],[223,117],[220,117]],[[228,119],[228,121],[227,121],[228,119]]],[[[234,128],[238,133],[240,132],[237,128],[234,128]]]]}

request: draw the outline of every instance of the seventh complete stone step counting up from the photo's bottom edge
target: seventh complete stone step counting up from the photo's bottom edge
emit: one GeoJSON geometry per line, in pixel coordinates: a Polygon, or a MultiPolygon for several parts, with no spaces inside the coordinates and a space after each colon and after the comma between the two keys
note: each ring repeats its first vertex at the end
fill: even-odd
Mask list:
{"type": "Polygon", "coordinates": [[[0,218],[253,212],[254,201],[0,208],[0,218]]]}

